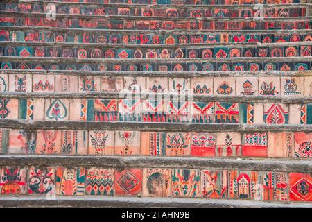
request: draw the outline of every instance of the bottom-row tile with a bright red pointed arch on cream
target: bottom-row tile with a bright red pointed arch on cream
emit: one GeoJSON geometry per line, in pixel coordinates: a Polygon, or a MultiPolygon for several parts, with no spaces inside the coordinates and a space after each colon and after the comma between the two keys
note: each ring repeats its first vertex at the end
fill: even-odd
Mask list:
{"type": "Polygon", "coordinates": [[[229,172],[229,198],[254,200],[257,187],[259,187],[257,172],[229,172]]]}

